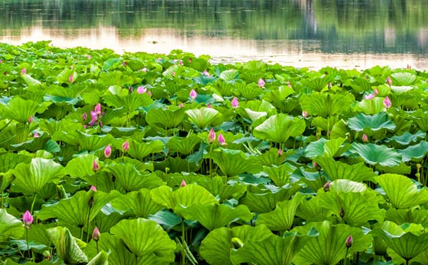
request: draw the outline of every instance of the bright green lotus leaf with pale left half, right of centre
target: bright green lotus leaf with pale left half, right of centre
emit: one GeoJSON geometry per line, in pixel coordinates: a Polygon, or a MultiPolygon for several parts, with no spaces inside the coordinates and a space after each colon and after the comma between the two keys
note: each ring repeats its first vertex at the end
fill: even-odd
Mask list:
{"type": "Polygon", "coordinates": [[[253,135],[258,139],[284,143],[290,137],[300,136],[305,129],[306,123],[303,119],[287,114],[275,114],[255,127],[253,135]]]}

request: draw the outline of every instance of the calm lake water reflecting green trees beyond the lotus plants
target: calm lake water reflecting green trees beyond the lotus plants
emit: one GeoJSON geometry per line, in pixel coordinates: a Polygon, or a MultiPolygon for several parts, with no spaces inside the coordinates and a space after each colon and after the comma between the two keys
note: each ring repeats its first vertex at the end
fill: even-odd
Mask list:
{"type": "Polygon", "coordinates": [[[428,0],[3,0],[0,42],[428,69],[428,0]]]}

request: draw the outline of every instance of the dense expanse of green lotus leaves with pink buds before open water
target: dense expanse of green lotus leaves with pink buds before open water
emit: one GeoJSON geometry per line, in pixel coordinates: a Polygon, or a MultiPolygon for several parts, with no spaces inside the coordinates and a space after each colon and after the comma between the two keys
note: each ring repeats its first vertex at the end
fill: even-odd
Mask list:
{"type": "Polygon", "coordinates": [[[428,73],[0,45],[4,264],[428,264],[428,73]]]}

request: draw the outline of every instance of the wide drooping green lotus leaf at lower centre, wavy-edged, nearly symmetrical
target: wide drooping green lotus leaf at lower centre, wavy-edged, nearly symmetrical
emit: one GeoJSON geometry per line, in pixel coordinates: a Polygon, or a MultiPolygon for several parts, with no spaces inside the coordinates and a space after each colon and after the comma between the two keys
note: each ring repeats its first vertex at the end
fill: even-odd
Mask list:
{"type": "Polygon", "coordinates": [[[253,213],[245,205],[231,208],[223,204],[192,204],[191,206],[176,206],[175,212],[182,215],[187,220],[197,220],[204,228],[214,230],[221,228],[234,220],[244,220],[249,222],[253,218],[253,213]]]}

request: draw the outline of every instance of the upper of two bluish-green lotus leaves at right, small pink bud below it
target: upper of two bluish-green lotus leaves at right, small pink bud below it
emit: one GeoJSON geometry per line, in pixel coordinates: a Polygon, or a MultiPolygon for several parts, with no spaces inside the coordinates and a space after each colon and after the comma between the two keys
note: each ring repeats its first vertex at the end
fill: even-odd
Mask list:
{"type": "Polygon", "coordinates": [[[353,131],[364,131],[368,136],[373,136],[374,132],[382,129],[394,130],[395,124],[385,112],[380,112],[374,115],[366,115],[359,113],[348,119],[349,129],[353,131]]]}

